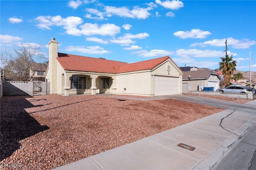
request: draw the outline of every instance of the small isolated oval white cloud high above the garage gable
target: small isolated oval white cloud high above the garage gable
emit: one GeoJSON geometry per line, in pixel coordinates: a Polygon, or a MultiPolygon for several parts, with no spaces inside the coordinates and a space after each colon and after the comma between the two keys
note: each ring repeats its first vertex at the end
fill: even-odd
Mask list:
{"type": "Polygon", "coordinates": [[[186,38],[206,38],[211,33],[208,31],[202,31],[200,29],[192,29],[191,31],[178,31],[174,32],[173,35],[182,39],[186,38]]]}

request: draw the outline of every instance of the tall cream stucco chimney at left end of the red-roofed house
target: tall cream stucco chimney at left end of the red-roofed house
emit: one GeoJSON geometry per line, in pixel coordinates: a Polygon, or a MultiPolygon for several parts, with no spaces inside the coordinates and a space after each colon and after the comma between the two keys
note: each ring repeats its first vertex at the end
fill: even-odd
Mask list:
{"type": "Polygon", "coordinates": [[[50,94],[57,94],[57,57],[58,57],[58,42],[55,38],[48,43],[49,45],[49,67],[46,79],[50,82],[50,94]]]}

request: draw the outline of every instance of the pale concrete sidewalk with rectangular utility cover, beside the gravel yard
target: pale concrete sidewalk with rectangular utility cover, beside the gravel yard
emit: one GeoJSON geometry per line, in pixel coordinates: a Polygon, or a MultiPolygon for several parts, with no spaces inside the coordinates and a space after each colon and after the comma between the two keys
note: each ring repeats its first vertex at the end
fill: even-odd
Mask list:
{"type": "Polygon", "coordinates": [[[213,169],[255,124],[250,101],[56,170],[213,169]]]}

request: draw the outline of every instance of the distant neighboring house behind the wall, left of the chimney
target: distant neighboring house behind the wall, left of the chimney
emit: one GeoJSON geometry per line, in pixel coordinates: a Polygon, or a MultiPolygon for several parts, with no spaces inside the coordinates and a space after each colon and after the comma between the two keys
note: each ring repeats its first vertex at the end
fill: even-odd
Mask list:
{"type": "Polygon", "coordinates": [[[45,63],[34,63],[34,65],[30,67],[31,81],[44,79],[46,68],[47,65],[45,63]]]}

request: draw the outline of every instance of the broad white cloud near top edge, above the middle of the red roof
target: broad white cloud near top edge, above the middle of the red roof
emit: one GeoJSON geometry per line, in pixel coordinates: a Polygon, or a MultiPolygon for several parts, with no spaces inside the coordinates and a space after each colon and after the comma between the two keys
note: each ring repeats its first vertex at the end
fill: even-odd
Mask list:
{"type": "Polygon", "coordinates": [[[107,16],[110,17],[112,15],[118,15],[120,17],[127,17],[127,18],[138,18],[138,19],[146,19],[150,16],[149,10],[152,10],[152,7],[148,8],[139,8],[135,6],[133,10],[129,10],[126,7],[117,8],[115,6],[105,6],[105,10],[107,16]]]}

